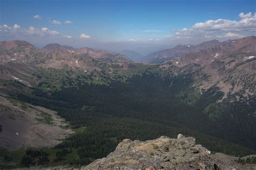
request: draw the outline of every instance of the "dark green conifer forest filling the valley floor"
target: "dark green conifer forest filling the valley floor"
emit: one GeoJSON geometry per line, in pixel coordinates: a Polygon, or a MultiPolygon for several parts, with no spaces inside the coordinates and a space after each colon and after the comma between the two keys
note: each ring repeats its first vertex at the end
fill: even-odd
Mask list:
{"type": "Polygon", "coordinates": [[[70,86],[60,90],[31,87],[32,94],[12,94],[58,111],[73,129],[85,127],[55,146],[56,162],[76,150],[79,158],[70,164],[86,165],[106,157],[123,139],[176,138],[179,133],[195,137],[198,144],[214,152],[240,157],[255,153],[255,117],[248,115],[256,110],[255,98],[250,106],[228,99],[217,103],[223,93],[213,86],[188,104],[180,94],[192,89],[190,73],[161,77],[146,71],[108,85],[72,86],[74,79],[67,79],[70,86]]]}

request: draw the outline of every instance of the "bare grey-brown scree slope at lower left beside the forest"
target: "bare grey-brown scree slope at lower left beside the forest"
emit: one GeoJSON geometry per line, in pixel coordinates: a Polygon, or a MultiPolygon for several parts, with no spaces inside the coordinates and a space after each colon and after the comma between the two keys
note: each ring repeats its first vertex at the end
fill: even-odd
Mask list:
{"type": "Polygon", "coordinates": [[[71,133],[63,119],[43,107],[0,96],[0,146],[15,151],[23,147],[52,147],[71,133]]]}

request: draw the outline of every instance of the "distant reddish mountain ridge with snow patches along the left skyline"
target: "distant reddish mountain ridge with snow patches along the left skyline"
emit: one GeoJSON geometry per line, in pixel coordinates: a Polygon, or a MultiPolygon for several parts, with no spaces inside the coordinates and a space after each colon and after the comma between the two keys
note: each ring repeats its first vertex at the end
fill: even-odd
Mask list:
{"type": "Polygon", "coordinates": [[[124,55],[104,50],[87,47],[74,49],[59,44],[48,44],[41,50],[21,40],[0,42],[0,51],[1,63],[24,63],[43,67],[70,66],[100,70],[100,63],[107,65],[107,63],[132,62],[124,55]]]}

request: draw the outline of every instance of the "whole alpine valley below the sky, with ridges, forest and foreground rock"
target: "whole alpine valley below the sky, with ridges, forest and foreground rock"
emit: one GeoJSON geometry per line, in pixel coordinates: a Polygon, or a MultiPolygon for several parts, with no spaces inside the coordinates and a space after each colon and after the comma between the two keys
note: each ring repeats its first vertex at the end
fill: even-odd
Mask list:
{"type": "Polygon", "coordinates": [[[123,53],[0,42],[0,167],[255,165],[255,36],[123,53]]]}

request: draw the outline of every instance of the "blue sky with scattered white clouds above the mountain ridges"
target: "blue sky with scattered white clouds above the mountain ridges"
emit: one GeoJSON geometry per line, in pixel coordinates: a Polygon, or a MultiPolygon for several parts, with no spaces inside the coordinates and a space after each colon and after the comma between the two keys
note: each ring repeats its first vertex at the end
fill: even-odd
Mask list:
{"type": "Polygon", "coordinates": [[[0,0],[0,40],[164,49],[255,35],[255,6],[256,0],[0,0]]]}

